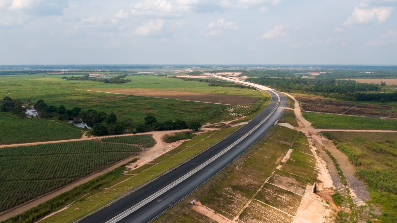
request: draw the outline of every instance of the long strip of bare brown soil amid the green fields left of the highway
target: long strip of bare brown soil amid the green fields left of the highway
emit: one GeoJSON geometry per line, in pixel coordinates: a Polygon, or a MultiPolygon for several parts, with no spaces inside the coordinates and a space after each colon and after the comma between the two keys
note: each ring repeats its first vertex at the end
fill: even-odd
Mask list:
{"type": "Polygon", "coordinates": [[[258,100],[256,97],[233,96],[223,94],[203,94],[193,92],[182,92],[173,90],[156,90],[156,89],[142,89],[142,88],[127,88],[127,89],[81,89],[96,92],[107,92],[114,94],[128,94],[154,98],[169,98],[176,100],[186,100],[194,102],[207,102],[216,104],[251,104],[258,100]]]}

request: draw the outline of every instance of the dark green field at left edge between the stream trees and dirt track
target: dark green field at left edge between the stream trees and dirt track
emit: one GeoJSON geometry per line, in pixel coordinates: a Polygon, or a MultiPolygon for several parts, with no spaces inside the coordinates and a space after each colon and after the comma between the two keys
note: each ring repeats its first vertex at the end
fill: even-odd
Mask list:
{"type": "Polygon", "coordinates": [[[0,112],[0,145],[81,138],[83,132],[55,121],[8,117],[0,112]]]}

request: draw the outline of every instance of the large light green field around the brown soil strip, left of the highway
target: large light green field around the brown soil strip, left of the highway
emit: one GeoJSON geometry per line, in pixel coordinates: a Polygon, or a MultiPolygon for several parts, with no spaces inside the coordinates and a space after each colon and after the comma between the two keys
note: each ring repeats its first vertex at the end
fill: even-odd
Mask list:
{"type": "MultiPolygon", "coordinates": [[[[71,75],[66,75],[71,76],[71,75]]],[[[47,105],[64,105],[67,109],[80,107],[82,110],[94,109],[98,112],[114,112],[119,120],[128,119],[132,125],[143,123],[148,113],[156,116],[159,122],[189,117],[206,118],[225,105],[181,100],[127,96],[103,92],[90,92],[85,88],[153,88],[212,94],[231,94],[240,96],[262,96],[261,92],[246,88],[209,87],[208,83],[183,81],[157,76],[128,76],[132,79],[126,84],[105,84],[96,81],[67,81],[62,75],[5,75],[0,76],[0,95],[20,99],[34,104],[43,99],[47,105]],[[203,115],[200,115],[203,114],[203,115]]]]}

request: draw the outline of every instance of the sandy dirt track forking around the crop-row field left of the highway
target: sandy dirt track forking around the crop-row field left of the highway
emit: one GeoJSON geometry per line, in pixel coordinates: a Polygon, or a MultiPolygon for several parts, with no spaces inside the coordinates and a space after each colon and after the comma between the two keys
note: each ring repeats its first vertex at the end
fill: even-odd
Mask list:
{"type": "MultiPolygon", "coordinates": [[[[212,131],[216,129],[210,129],[210,128],[202,128],[201,130],[204,131],[212,131]]],[[[181,129],[181,130],[171,130],[171,131],[152,131],[152,132],[146,132],[146,133],[137,133],[136,135],[146,135],[146,134],[151,134],[153,139],[155,140],[156,144],[151,147],[151,148],[146,148],[142,150],[141,152],[134,154],[128,158],[125,158],[123,160],[118,161],[117,163],[113,164],[112,166],[103,169],[101,171],[92,173],[91,175],[88,175],[87,177],[84,177],[82,179],[79,179],[78,181],[75,181],[69,185],[66,185],[62,188],[59,188],[57,190],[54,190],[52,192],[49,192],[47,194],[44,194],[42,196],[39,196],[33,200],[27,201],[19,206],[16,206],[15,208],[3,211],[0,213],[0,221],[4,221],[13,215],[20,214],[23,211],[29,210],[30,208],[33,208],[37,206],[38,204],[41,204],[47,200],[50,200],[51,198],[54,198],[58,196],[59,194],[62,194],[64,192],[67,192],[68,190],[73,189],[76,186],[82,185],[83,183],[86,183],[95,177],[99,177],[100,175],[103,175],[109,171],[112,171],[116,169],[117,167],[127,163],[128,161],[131,161],[133,158],[139,158],[138,162],[135,162],[131,165],[135,166],[138,165],[141,166],[145,163],[148,163],[151,160],[154,160],[158,156],[161,156],[162,154],[168,152],[169,150],[175,148],[178,146],[181,142],[175,142],[175,143],[165,143],[162,141],[162,137],[164,135],[172,134],[172,133],[178,133],[178,132],[185,132],[189,131],[189,129],[181,129]]],[[[133,134],[124,134],[124,135],[112,135],[112,136],[128,136],[128,135],[133,135],[133,134]]],[[[47,142],[31,142],[31,143],[20,143],[20,144],[10,144],[10,145],[1,145],[1,147],[11,147],[11,146],[30,146],[30,145],[37,145],[37,144],[50,144],[50,143],[58,143],[58,142],[71,142],[71,141],[82,141],[82,140],[93,140],[93,139],[100,139],[100,138],[105,138],[105,137],[112,137],[112,136],[97,136],[97,137],[91,137],[91,138],[76,138],[76,139],[68,139],[68,140],[58,140],[58,141],[47,141],[47,142]]]]}

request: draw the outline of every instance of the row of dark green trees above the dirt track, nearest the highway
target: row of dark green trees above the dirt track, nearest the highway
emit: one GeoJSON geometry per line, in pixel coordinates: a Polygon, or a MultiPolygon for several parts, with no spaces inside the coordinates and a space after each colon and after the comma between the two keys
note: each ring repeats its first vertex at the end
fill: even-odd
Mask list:
{"type": "Polygon", "coordinates": [[[147,131],[164,131],[164,130],[177,130],[177,129],[191,129],[193,131],[198,131],[201,129],[201,124],[197,121],[193,121],[190,125],[187,125],[185,121],[175,120],[175,121],[165,121],[158,122],[156,117],[153,115],[146,115],[145,124],[138,125],[136,131],[138,133],[143,133],[147,131]]]}

